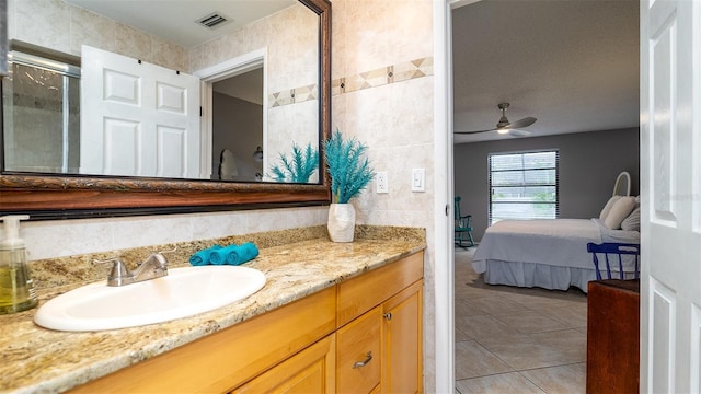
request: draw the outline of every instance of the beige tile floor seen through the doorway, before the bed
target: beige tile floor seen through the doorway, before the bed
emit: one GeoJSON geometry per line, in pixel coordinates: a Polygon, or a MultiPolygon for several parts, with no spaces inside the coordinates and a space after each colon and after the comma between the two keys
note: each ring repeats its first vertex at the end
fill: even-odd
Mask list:
{"type": "Polygon", "coordinates": [[[456,248],[456,392],[585,393],[587,299],[484,285],[456,248]]]}

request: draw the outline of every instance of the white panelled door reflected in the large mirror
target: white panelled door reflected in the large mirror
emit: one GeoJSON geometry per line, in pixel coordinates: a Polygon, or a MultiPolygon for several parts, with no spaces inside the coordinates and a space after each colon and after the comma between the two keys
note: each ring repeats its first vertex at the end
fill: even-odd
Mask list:
{"type": "Polygon", "coordinates": [[[80,172],[199,176],[199,79],[82,47],[80,172]]]}

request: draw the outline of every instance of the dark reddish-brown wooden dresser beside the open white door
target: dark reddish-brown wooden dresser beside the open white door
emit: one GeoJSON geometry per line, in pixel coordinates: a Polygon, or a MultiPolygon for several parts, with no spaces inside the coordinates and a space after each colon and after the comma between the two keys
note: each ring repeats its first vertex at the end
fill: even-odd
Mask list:
{"type": "Polygon", "coordinates": [[[640,281],[590,281],[587,296],[587,393],[637,393],[640,281]]]}

